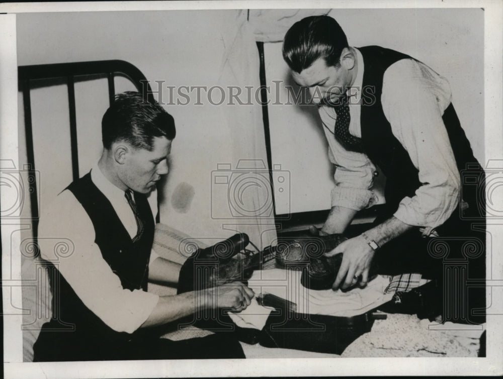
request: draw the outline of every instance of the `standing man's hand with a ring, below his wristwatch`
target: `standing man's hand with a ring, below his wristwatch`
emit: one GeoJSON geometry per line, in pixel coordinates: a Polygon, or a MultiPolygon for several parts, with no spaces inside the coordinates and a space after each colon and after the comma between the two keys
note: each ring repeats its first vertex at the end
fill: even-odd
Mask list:
{"type": "Polygon", "coordinates": [[[345,278],[341,286],[343,289],[356,285],[360,275],[362,275],[360,285],[366,286],[369,280],[370,263],[374,258],[374,250],[362,236],[358,236],[344,241],[325,255],[333,256],[339,253],[343,253],[343,260],[332,290],[338,290],[345,278]]]}

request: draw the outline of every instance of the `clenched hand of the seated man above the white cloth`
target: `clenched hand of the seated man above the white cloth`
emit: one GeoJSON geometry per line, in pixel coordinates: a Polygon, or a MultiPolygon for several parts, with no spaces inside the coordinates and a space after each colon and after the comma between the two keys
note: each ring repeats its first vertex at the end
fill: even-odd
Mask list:
{"type": "Polygon", "coordinates": [[[254,298],[255,293],[241,282],[226,283],[223,286],[202,291],[207,308],[230,308],[232,312],[245,310],[254,298]]]}

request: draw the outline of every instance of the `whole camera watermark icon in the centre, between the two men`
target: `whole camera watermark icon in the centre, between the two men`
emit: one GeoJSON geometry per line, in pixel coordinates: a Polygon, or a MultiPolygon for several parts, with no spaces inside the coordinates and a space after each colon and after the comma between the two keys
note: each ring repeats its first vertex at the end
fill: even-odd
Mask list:
{"type": "MultiPolygon", "coordinates": [[[[274,164],[271,171],[262,159],[240,159],[235,168],[219,163],[211,171],[213,219],[274,218],[274,203],[290,209],[290,171],[274,164]],[[271,188],[273,180],[274,194],[271,188]]],[[[276,215],[276,218],[288,218],[276,215]]]]}

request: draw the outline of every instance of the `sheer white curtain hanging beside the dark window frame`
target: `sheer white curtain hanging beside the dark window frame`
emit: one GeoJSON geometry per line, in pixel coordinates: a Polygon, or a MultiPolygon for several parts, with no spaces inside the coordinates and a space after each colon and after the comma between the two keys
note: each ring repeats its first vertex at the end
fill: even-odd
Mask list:
{"type": "MultiPolygon", "coordinates": [[[[274,244],[276,227],[274,214],[269,207],[272,204],[272,191],[264,136],[262,106],[256,99],[256,90],[260,87],[260,60],[256,42],[282,41],[287,30],[297,21],[311,15],[324,15],[329,10],[241,10],[236,11],[234,20],[229,20],[221,33],[225,45],[222,67],[218,84],[226,87],[238,86],[243,91],[246,86],[253,87],[253,105],[225,105],[218,107],[224,112],[224,118],[230,130],[234,162],[245,164],[249,168],[248,183],[242,191],[242,197],[231,188],[229,202],[234,208],[240,208],[244,216],[224,225],[224,228],[240,230],[251,241],[264,246],[274,244]],[[244,162],[243,162],[244,160],[244,162]],[[267,185],[264,179],[267,179],[267,185]],[[236,204],[234,204],[236,203],[236,204]],[[247,217],[255,210],[255,218],[247,217]]],[[[260,99],[260,92],[259,94],[260,99]]],[[[246,96],[243,99],[249,100],[246,96]]],[[[243,174],[244,175],[244,174],[243,174]]],[[[243,181],[243,185],[245,181],[243,181]]],[[[237,188],[236,188],[237,189],[237,188]]]]}

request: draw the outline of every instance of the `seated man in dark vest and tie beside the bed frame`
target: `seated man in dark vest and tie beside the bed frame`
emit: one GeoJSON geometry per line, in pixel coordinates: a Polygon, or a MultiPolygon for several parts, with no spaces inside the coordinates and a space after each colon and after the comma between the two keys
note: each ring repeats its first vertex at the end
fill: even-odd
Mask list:
{"type": "Polygon", "coordinates": [[[56,269],[53,317],[34,345],[35,361],[244,357],[229,333],[178,342],[152,333],[204,308],[240,311],[254,296],[241,283],[146,292],[148,280],[178,282],[180,265],[151,251],[155,184],[169,171],[175,134],[173,118],[137,92],[119,94],[105,113],[100,160],[41,219],[41,255],[56,269]]]}

